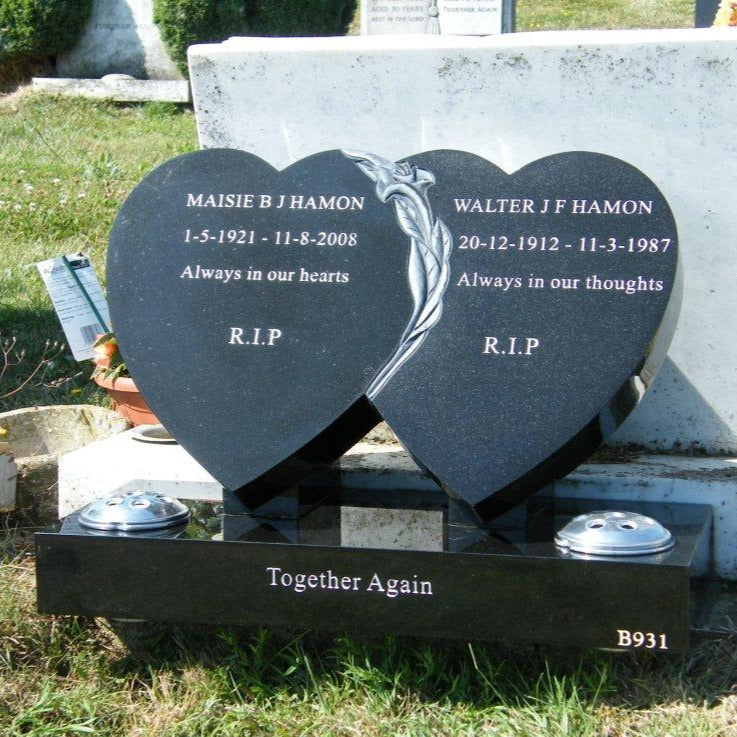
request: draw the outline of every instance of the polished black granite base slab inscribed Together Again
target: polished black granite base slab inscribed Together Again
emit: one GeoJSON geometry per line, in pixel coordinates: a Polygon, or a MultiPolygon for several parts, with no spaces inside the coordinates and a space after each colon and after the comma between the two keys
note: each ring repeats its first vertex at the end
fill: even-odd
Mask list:
{"type": "Polygon", "coordinates": [[[587,559],[561,553],[553,534],[572,516],[601,509],[601,501],[536,498],[482,529],[449,524],[447,508],[432,502],[372,509],[358,493],[345,496],[299,519],[229,516],[223,526],[232,539],[201,539],[194,526],[163,536],[91,534],[72,515],[59,532],[36,536],[38,609],[371,635],[688,647],[690,579],[708,542],[709,507],[616,503],[666,524],[675,548],[587,559]],[[373,513],[376,523],[366,526],[373,513]],[[382,529],[397,531],[393,543],[382,529]]]}

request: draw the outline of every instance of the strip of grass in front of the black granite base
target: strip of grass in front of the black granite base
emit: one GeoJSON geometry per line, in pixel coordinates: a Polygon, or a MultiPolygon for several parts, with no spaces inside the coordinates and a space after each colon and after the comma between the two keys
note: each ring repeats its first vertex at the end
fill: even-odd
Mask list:
{"type": "Polygon", "coordinates": [[[131,655],[103,620],[34,611],[0,564],[0,734],[730,737],[735,642],[686,658],[410,638],[173,629],[131,655]]]}

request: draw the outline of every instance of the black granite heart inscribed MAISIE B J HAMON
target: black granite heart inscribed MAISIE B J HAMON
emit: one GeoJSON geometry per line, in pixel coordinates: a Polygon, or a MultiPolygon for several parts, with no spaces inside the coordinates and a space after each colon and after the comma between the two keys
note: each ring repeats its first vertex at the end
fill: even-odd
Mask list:
{"type": "Polygon", "coordinates": [[[282,172],[200,151],[130,195],[108,255],[121,352],[226,488],[263,501],[376,424],[363,394],[412,312],[405,241],[338,151],[282,172]]]}

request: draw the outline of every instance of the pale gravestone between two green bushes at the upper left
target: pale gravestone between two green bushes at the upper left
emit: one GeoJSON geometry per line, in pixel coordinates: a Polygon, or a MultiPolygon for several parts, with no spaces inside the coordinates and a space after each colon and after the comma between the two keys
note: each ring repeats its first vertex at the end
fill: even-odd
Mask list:
{"type": "Polygon", "coordinates": [[[153,0],[94,0],[77,45],[56,60],[60,77],[182,79],[153,21],[153,0]]]}

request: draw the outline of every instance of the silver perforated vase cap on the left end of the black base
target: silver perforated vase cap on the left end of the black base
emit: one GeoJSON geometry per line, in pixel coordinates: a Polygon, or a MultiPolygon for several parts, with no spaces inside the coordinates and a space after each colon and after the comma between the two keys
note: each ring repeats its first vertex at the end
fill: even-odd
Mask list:
{"type": "Polygon", "coordinates": [[[179,500],[155,491],[126,491],[88,504],[79,524],[93,530],[160,530],[176,527],[189,519],[189,510],[179,500]]]}

